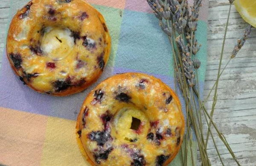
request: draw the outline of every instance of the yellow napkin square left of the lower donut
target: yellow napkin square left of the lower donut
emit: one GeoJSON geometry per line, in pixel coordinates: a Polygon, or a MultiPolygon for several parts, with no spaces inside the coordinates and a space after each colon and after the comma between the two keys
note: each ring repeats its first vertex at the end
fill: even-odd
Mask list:
{"type": "Polygon", "coordinates": [[[42,166],[90,166],[76,142],[76,121],[48,117],[42,166]]]}

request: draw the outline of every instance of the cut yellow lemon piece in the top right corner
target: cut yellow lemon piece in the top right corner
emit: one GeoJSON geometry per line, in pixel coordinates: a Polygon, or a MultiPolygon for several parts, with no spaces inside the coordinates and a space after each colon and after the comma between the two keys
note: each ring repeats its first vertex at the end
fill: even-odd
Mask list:
{"type": "Polygon", "coordinates": [[[242,18],[256,27],[256,0],[235,0],[235,6],[242,18]]]}

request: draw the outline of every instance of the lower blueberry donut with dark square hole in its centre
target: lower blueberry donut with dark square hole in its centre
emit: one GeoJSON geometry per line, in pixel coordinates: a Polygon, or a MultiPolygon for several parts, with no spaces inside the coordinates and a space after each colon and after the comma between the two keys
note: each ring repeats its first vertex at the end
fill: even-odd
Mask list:
{"type": "Polygon", "coordinates": [[[92,166],[166,166],[183,141],[184,117],[177,95],[159,79],[117,74],[88,94],[76,133],[92,166]]]}

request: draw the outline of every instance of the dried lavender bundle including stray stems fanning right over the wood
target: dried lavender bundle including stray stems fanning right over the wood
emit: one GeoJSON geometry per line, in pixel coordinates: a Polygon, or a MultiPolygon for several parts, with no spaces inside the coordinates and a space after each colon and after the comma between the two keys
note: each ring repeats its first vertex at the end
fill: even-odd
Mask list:
{"type": "MultiPolygon", "coordinates": [[[[212,132],[210,129],[211,124],[214,126],[216,132],[218,133],[219,138],[227,147],[230,154],[236,160],[236,157],[234,156],[224,135],[222,135],[221,132],[219,132],[215,123],[212,121],[212,114],[211,116],[208,114],[207,110],[204,107],[204,104],[201,102],[198,89],[195,88],[198,87],[195,86],[197,84],[197,82],[195,81],[196,70],[200,68],[201,62],[196,57],[192,58],[192,55],[196,55],[201,47],[201,45],[199,45],[198,41],[195,39],[195,31],[197,30],[198,26],[197,21],[202,0],[194,0],[192,6],[189,6],[188,0],[147,0],[147,2],[149,6],[151,6],[151,8],[153,9],[157,19],[159,20],[159,25],[161,29],[169,37],[175,61],[175,75],[177,76],[177,82],[180,85],[180,89],[186,103],[187,134],[185,140],[185,156],[183,158],[183,165],[187,165],[187,142],[191,143],[191,126],[195,131],[195,136],[198,141],[198,148],[201,155],[202,165],[211,165],[207,155],[207,142],[204,142],[205,140],[202,131],[202,123],[200,120],[201,108],[203,108],[204,117],[209,127],[209,133],[211,134],[212,141],[214,143],[215,149],[217,151],[218,157],[222,165],[224,165],[224,163],[221,160],[221,156],[215,144],[214,137],[212,136],[212,132]],[[187,41],[188,44],[185,44],[184,39],[187,41]],[[197,96],[197,99],[194,98],[194,95],[197,96]],[[197,102],[201,106],[200,109],[198,108],[197,102]],[[207,117],[209,118],[209,122],[207,117]]],[[[233,3],[233,1],[230,0],[230,3],[233,3]]],[[[228,18],[229,16],[230,12],[228,18]]],[[[244,41],[246,40],[246,37],[247,35],[245,34],[244,38],[239,40],[239,43],[235,47],[234,55],[236,55],[236,51],[239,51],[239,49],[241,49],[241,46],[244,44],[244,41]]],[[[215,99],[217,99],[217,97],[215,97],[215,99]]],[[[206,141],[208,141],[208,135],[206,141]]],[[[191,155],[193,155],[192,151],[191,155]]],[[[237,160],[236,162],[238,163],[237,160]]],[[[192,157],[192,165],[194,164],[195,163],[192,157]]],[[[240,164],[238,163],[238,165],[240,164]]]]}

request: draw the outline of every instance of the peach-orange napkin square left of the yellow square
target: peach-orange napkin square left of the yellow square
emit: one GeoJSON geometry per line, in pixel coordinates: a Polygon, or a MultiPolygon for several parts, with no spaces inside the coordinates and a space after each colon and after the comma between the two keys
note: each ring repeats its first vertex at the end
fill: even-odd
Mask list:
{"type": "Polygon", "coordinates": [[[0,107],[0,163],[40,166],[47,117],[0,107]]]}

